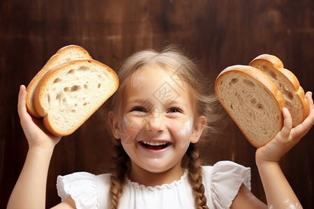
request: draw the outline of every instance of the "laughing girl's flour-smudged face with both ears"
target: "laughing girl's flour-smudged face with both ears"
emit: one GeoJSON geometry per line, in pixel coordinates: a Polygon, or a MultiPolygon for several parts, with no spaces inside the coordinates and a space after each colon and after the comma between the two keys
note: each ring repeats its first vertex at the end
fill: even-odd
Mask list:
{"type": "Polygon", "coordinates": [[[198,141],[204,127],[199,118],[195,121],[186,84],[158,66],[142,68],[120,104],[112,130],[121,139],[132,170],[162,173],[180,168],[190,142],[198,141]]]}

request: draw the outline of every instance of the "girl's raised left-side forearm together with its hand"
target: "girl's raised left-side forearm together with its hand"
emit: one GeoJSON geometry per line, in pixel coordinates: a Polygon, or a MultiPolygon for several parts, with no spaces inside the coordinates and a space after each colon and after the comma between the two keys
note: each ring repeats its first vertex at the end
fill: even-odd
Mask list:
{"type": "Polygon", "coordinates": [[[13,208],[45,208],[47,173],[54,146],[61,137],[49,134],[42,121],[31,118],[27,113],[25,86],[20,87],[17,110],[20,116],[25,136],[29,144],[29,151],[8,201],[7,209],[13,208]]]}

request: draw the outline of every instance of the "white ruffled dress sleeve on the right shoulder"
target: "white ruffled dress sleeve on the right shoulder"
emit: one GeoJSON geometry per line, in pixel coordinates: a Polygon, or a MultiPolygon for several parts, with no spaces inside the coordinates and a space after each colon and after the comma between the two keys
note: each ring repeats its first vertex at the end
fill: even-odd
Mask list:
{"type": "Polygon", "coordinates": [[[213,167],[203,167],[203,171],[214,208],[230,208],[242,184],[251,190],[251,169],[240,164],[221,161],[213,167]]]}

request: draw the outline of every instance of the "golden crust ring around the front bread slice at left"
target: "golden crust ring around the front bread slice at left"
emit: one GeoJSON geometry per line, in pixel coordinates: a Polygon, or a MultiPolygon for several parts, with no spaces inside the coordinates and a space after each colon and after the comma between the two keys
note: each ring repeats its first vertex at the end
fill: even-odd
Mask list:
{"type": "Polygon", "coordinates": [[[87,119],[94,114],[94,112],[108,99],[110,98],[110,96],[117,90],[119,86],[119,79],[117,77],[116,72],[114,72],[114,70],[112,70],[110,67],[108,67],[107,65],[100,63],[98,61],[92,60],[92,59],[80,59],[80,60],[75,60],[75,61],[68,61],[66,63],[62,63],[61,65],[56,66],[55,68],[52,68],[51,70],[49,70],[45,75],[43,75],[43,78],[40,79],[40,82],[38,82],[38,86],[34,92],[33,95],[33,104],[34,107],[36,108],[36,111],[38,112],[40,117],[43,117],[43,123],[46,127],[46,129],[57,136],[66,136],[69,134],[72,134],[78,127],[80,127],[80,125],[82,125],[85,121],[87,121],[87,119]],[[51,120],[52,118],[50,118],[49,113],[47,113],[46,111],[46,107],[44,104],[44,91],[46,88],[49,88],[49,82],[51,79],[54,79],[56,75],[59,74],[59,72],[63,71],[63,70],[69,70],[71,69],[71,66],[73,65],[97,65],[100,68],[103,68],[103,70],[105,70],[106,75],[108,77],[110,77],[110,79],[112,80],[112,92],[110,92],[110,95],[108,95],[106,98],[103,98],[103,100],[98,101],[96,103],[96,107],[94,109],[91,109],[91,111],[89,112],[89,115],[84,118],[81,121],[77,121],[77,125],[73,128],[68,128],[68,130],[66,131],[61,131],[58,130],[56,127],[54,127],[54,125],[52,125],[51,120]]]}

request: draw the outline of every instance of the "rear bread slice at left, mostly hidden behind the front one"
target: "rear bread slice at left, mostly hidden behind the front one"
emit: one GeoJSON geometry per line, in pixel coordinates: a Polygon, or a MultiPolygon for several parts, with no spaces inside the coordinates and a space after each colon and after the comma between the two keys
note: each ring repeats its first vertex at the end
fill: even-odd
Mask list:
{"type": "Polygon", "coordinates": [[[89,53],[82,47],[77,45],[68,45],[66,47],[62,47],[58,50],[56,54],[54,54],[47,63],[43,66],[43,68],[36,74],[35,77],[31,80],[29,85],[27,86],[27,111],[31,116],[40,118],[38,113],[36,112],[35,107],[33,106],[33,93],[38,85],[40,79],[45,75],[45,73],[54,68],[61,63],[65,63],[66,61],[75,60],[75,59],[91,59],[89,53]]]}

